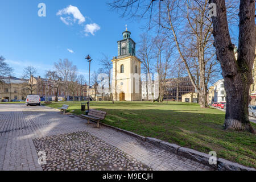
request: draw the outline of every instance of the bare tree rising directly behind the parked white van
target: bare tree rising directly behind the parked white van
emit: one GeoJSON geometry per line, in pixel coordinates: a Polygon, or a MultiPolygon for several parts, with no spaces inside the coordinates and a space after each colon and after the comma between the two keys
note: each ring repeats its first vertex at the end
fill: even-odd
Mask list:
{"type": "Polygon", "coordinates": [[[34,76],[36,75],[37,71],[34,67],[28,66],[23,70],[23,79],[27,79],[27,89],[31,94],[37,89],[36,82],[34,82],[34,76]]]}

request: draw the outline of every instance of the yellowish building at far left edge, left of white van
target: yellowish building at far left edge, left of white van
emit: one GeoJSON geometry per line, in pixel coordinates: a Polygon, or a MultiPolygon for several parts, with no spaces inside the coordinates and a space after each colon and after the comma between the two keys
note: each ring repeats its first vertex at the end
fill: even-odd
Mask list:
{"type": "Polygon", "coordinates": [[[11,100],[25,100],[28,94],[27,80],[16,77],[0,77],[0,102],[11,100]]]}

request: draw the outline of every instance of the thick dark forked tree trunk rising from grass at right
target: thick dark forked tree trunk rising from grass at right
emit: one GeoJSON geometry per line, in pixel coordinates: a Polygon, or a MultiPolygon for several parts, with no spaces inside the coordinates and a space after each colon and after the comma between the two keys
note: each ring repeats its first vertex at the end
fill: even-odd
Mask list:
{"type": "Polygon", "coordinates": [[[249,131],[254,133],[248,117],[250,102],[249,88],[253,83],[252,68],[255,57],[255,1],[240,1],[240,23],[238,57],[234,55],[226,6],[224,0],[211,0],[216,3],[217,16],[212,16],[214,46],[220,61],[226,90],[225,129],[249,131]]]}

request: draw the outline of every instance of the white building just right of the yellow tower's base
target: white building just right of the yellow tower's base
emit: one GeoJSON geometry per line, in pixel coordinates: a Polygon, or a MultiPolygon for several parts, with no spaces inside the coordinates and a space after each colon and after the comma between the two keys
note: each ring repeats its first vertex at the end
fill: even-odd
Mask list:
{"type": "Polygon", "coordinates": [[[158,99],[158,86],[155,86],[154,80],[151,81],[151,86],[149,82],[147,83],[146,81],[142,81],[142,101],[152,100],[152,98],[154,100],[158,99]]]}

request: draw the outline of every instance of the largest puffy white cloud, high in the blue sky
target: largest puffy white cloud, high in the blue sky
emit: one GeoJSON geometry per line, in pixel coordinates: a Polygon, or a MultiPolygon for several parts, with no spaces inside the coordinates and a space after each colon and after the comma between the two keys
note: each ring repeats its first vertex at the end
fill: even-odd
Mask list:
{"type": "Polygon", "coordinates": [[[81,12],[79,11],[79,9],[76,6],[72,6],[69,5],[68,7],[59,10],[56,14],[57,16],[60,16],[61,21],[63,21],[63,23],[69,25],[72,24],[73,22],[76,22],[76,20],[79,20],[79,24],[84,23],[85,22],[85,17],[81,14],[81,12]],[[73,19],[71,18],[71,16],[68,16],[67,18],[63,18],[63,16],[61,15],[73,15],[73,19]]]}

